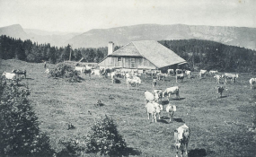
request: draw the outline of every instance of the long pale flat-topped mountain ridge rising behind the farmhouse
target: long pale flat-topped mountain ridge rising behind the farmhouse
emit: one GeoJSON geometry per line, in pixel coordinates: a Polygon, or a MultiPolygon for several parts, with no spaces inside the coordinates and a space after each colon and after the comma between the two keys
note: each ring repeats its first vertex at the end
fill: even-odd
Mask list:
{"type": "Polygon", "coordinates": [[[130,41],[153,39],[207,39],[227,45],[256,49],[256,29],[245,27],[142,24],[86,31],[66,41],[74,48],[99,48],[109,41],[126,45],[130,41]]]}

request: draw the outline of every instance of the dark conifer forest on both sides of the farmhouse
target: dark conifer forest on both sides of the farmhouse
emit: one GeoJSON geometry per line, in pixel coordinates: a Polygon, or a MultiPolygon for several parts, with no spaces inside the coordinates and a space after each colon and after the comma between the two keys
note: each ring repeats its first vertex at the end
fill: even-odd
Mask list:
{"type": "MultiPolygon", "coordinates": [[[[256,51],[248,48],[228,46],[215,41],[202,39],[160,40],[166,48],[187,60],[190,68],[215,69],[225,72],[256,72],[256,51]]],[[[114,50],[121,48],[116,46],[114,50]]],[[[54,47],[49,43],[38,44],[30,39],[13,39],[0,36],[0,58],[20,59],[27,62],[57,64],[65,60],[99,63],[108,54],[108,48],[54,47]]]]}

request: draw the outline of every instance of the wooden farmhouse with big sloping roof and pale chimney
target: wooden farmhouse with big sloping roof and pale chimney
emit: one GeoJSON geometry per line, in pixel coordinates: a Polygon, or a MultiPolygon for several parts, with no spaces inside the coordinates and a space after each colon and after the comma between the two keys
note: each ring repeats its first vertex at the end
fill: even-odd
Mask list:
{"type": "Polygon", "coordinates": [[[132,41],[126,46],[114,51],[114,43],[108,44],[108,56],[100,66],[128,69],[159,69],[167,71],[187,65],[187,62],[171,49],[154,40],[132,41]]]}

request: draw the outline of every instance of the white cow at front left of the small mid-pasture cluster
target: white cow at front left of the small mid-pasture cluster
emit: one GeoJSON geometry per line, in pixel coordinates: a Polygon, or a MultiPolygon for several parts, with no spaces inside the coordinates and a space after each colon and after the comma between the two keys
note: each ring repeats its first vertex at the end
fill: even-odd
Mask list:
{"type": "Polygon", "coordinates": [[[152,115],[152,122],[156,123],[156,114],[158,114],[158,118],[160,119],[160,112],[163,110],[163,105],[160,105],[156,102],[149,102],[146,104],[146,113],[147,119],[149,119],[150,114],[152,115]]]}

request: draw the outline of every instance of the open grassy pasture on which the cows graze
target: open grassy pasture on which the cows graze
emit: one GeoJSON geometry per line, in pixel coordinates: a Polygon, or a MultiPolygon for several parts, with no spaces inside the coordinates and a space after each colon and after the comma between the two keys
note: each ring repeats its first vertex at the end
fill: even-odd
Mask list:
{"type": "Polygon", "coordinates": [[[61,149],[58,140],[83,140],[94,120],[106,114],[114,119],[128,146],[141,152],[131,153],[133,156],[175,156],[173,130],[185,121],[191,129],[190,157],[204,156],[196,153],[205,151],[207,157],[255,157],[255,135],[253,139],[253,133],[247,128],[256,110],[256,89],[251,90],[248,82],[251,74],[240,74],[237,83],[227,83],[228,91],[218,99],[216,80],[210,77],[184,79],[183,83],[175,83],[174,77],[170,81],[160,81],[157,85],[160,89],[179,85],[181,100],[171,100],[177,106],[172,123],[168,123],[165,112],[166,99],[163,99],[163,119],[151,123],[147,120],[144,104],[144,92],[152,88],[150,79],[142,79],[139,91],[133,88],[128,91],[123,80],[111,83],[110,78],[94,75],[89,80],[88,75],[82,74],[82,83],[67,83],[62,79],[46,78],[42,63],[0,61],[1,73],[15,68],[27,70],[27,79],[21,83],[29,84],[40,128],[49,134],[51,145],[57,151],[61,149]],[[105,105],[95,107],[97,100],[105,105]],[[69,122],[75,130],[67,130],[69,122]]]}

